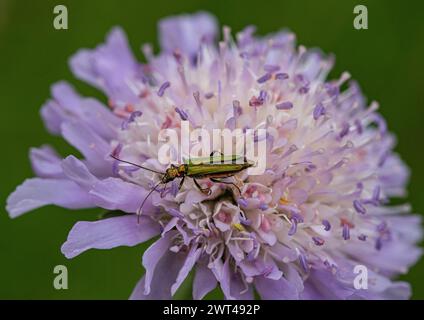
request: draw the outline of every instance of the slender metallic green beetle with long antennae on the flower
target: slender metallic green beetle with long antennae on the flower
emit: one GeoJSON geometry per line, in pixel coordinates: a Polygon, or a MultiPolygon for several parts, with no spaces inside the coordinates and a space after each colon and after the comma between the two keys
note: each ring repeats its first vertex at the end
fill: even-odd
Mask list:
{"type": "Polygon", "coordinates": [[[211,189],[202,188],[197,179],[209,179],[210,181],[215,183],[224,183],[232,185],[236,187],[237,190],[241,193],[240,188],[234,182],[223,181],[221,179],[233,177],[235,174],[254,166],[254,164],[248,161],[244,156],[224,156],[223,154],[220,154],[219,156],[214,156],[215,153],[216,152],[212,152],[209,157],[205,158],[190,158],[186,160],[183,164],[171,164],[171,166],[166,169],[165,172],[156,171],[126,160],[119,159],[113,154],[111,155],[111,157],[117,161],[131,164],[138,168],[162,175],[160,181],[152,189],[150,189],[149,193],[146,195],[143,202],[141,203],[140,208],[137,211],[137,214],[140,214],[141,209],[143,208],[146,200],[155,190],[157,190],[160,185],[165,185],[166,188],[166,184],[168,182],[171,182],[177,178],[181,178],[178,190],[181,189],[181,187],[183,186],[185,178],[189,177],[193,179],[193,182],[196,187],[205,194],[210,194],[211,189]]]}

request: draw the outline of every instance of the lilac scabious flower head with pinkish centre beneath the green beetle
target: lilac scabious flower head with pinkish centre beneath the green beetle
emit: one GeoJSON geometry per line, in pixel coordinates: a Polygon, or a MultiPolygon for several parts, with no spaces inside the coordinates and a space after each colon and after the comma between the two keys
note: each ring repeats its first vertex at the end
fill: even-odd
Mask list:
{"type": "Polygon", "coordinates": [[[74,74],[102,90],[109,108],[65,82],[52,87],[45,125],[83,159],[32,149],[37,178],[10,195],[10,216],[49,204],[126,213],[76,223],[62,252],[73,258],[156,237],[132,299],[171,298],[192,271],[195,299],[217,285],[227,299],[251,299],[254,290],[262,299],[408,298],[409,285],[392,279],[421,254],[420,219],[408,205],[388,203],[404,195],[408,170],[377,104],[367,107],[355,82],[341,89],[347,73],[327,81],[332,58],[297,48],[290,32],[256,37],[247,27],[233,40],[224,28],[216,45],[207,13],[164,19],[159,31],[161,52],[144,46],[146,63],[119,28],[71,58],[74,74]],[[241,194],[174,182],[153,192],[137,223],[157,175],[110,154],[163,171],[151,138],[180,130],[181,120],[266,129],[256,140],[267,141],[267,170],[240,173],[241,194]],[[354,287],[357,265],[367,267],[367,289],[354,287]]]}

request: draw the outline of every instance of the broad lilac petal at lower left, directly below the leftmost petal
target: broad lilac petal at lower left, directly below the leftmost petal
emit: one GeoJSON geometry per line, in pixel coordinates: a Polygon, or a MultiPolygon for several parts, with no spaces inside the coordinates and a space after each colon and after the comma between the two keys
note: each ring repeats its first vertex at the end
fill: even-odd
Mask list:
{"type": "Polygon", "coordinates": [[[159,224],[135,215],[114,217],[99,221],[77,222],[62,245],[62,253],[71,259],[88,249],[111,249],[118,246],[135,246],[160,232],[159,224]]]}

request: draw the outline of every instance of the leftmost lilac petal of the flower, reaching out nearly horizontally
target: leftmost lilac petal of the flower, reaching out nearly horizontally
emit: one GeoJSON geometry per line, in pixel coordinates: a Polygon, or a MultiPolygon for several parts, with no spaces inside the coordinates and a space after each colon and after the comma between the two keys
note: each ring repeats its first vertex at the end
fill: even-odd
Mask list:
{"type": "Polygon", "coordinates": [[[42,206],[54,204],[68,209],[94,206],[88,194],[76,183],[65,179],[27,179],[7,199],[6,210],[10,217],[42,206]]]}

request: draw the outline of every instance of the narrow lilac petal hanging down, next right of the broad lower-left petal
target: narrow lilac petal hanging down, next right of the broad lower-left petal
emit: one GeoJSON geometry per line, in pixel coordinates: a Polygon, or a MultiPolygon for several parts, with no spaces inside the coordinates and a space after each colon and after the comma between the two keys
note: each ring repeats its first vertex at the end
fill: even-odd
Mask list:
{"type": "MultiPolygon", "coordinates": [[[[143,267],[146,269],[144,294],[150,293],[155,268],[163,256],[171,254],[169,248],[172,244],[174,232],[166,233],[162,238],[153,243],[143,254],[143,267]]],[[[157,286],[157,284],[155,284],[157,286]]]]}

